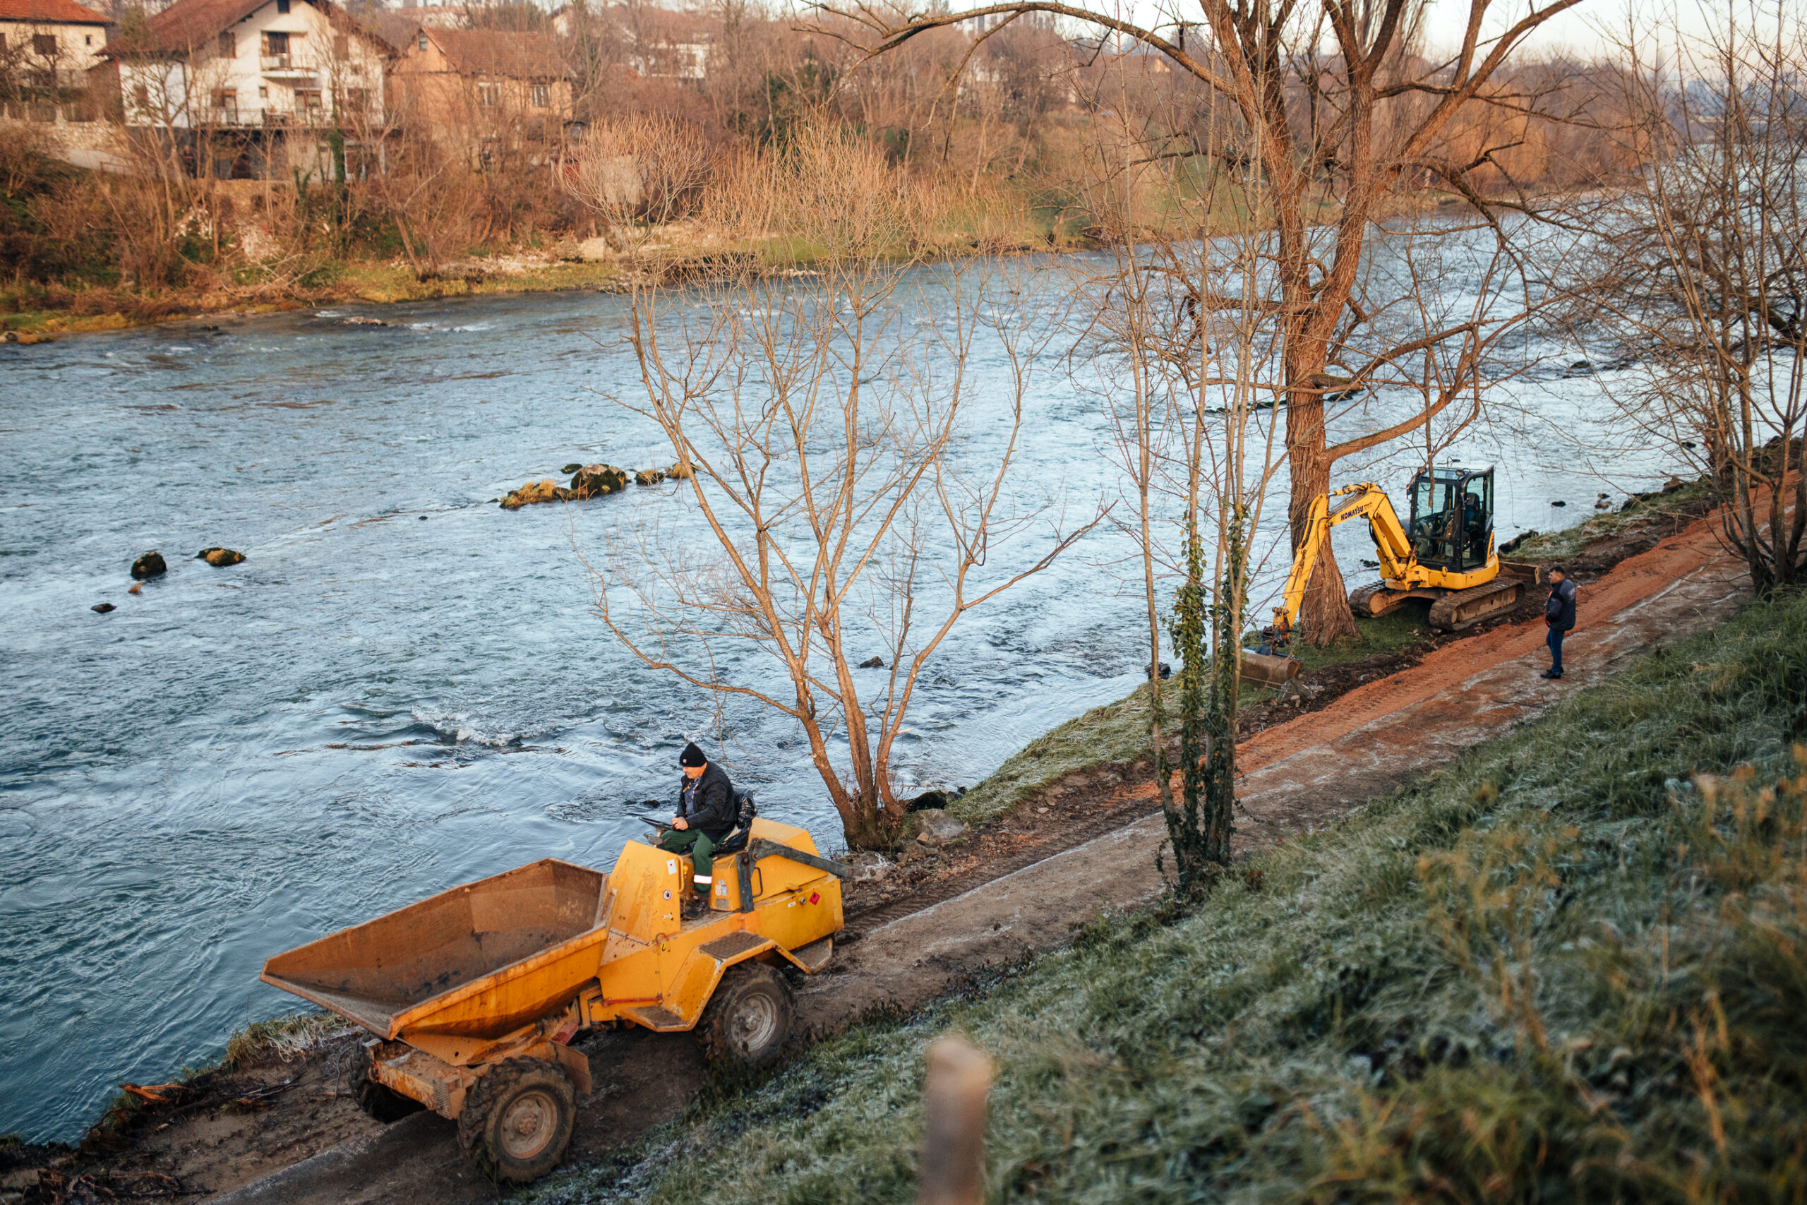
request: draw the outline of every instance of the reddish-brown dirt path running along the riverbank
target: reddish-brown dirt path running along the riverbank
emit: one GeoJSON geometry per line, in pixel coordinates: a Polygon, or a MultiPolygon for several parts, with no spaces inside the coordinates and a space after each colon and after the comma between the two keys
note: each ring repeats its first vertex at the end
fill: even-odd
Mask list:
{"type": "MultiPolygon", "coordinates": [[[[1717,623],[1746,596],[1742,565],[1720,551],[1713,520],[1699,520],[1581,585],[1583,623],[1568,638],[1568,676],[1559,683],[1538,677],[1547,665],[1543,625],[1518,623],[1437,649],[1323,710],[1270,726],[1240,746],[1238,847],[1317,827],[1603,681],[1637,650],[1717,623]]],[[[1153,855],[1166,827],[1153,784],[1117,788],[1099,808],[1124,822],[1019,869],[1005,858],[1006,873],[963,894],[934,900],[941,892],[932,892],[914,911],[900,900],[855,920],[858,939],[799,990],[802,1026],[824,1033],[876,1006],[914,1008],[988,963],[1061,945],[1104,909],[1155,896],[1153,855]]],[[[683,1035],[604,1033],[584,1050],[600,1091],[582,1107],[571,1162],[676,1116],[705,1077],[683,1035]]],[[[419,1113],[379,1127],[334,1095],[334,1079],[331,1053],[316,1057],[296,1071],[298,1100],[282,1122],[255,1113],[192,1122],[159,1131],[136,1158],[146,1169],[177,1171],[186,1185],[213,1194],[206,1200],[235,1205],[495,1200],[459,1156],[450,1122],[419,1113]],[[318,1154],[302,1158],[309,1151],[318,1154]]]]}

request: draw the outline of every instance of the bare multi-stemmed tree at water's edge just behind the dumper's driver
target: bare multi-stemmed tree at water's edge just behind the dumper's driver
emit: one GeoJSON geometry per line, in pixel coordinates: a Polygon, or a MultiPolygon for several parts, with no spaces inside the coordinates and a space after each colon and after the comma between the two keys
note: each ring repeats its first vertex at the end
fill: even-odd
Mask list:
{"type": "Polygon", "coordinates": [[[634,294],[645,394],[622,405],[670,441],[678,497],[708,537],[618,533],[596,612],[645,665],[795,719],[849,844],[885,845],[904,818],[894,743],[929,658],[961,616],[1046,569],[1097,518],[1061,528],[1050,504],[1019,499],[1037,340],[987,318],[997,298],[978,269],[947,267],[922,282],[938,293],[911,294],[896,257],[911,191],[878,152],[808,130],[737,179],[752,181],[734,199],[744,220],[804,231],[817,267],[634,294]],[[1008,425],[988,462],[956,453],[981,331],[1010,365],[1003,406],[988,403],[1008,425]],[[1046,537],[1017,555],[1014,537],[1035,526],[1046,537]],[[887,674],[862,694],[855,667],[873,643],[887,674]],[[741,661],[746,649],[768,659],[741,661]]]}

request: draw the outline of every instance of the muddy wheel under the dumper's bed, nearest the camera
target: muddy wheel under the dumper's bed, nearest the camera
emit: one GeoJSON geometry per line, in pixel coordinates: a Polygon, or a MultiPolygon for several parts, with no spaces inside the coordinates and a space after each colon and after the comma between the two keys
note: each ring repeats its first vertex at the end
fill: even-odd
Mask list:
{"type": "Polygon", "coordinates": [[[576,1088],[557,1062],[508,1059],[464,1097],[457,1142],[493,1183],[531,1183],[558,1167],[576,1126],[576,1088]]]}

